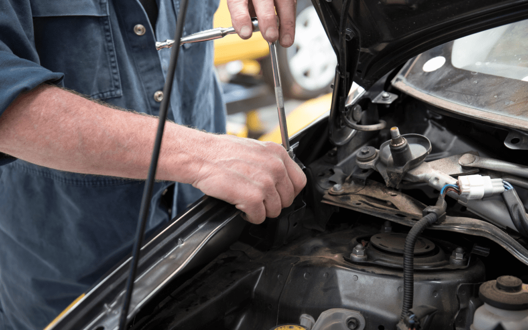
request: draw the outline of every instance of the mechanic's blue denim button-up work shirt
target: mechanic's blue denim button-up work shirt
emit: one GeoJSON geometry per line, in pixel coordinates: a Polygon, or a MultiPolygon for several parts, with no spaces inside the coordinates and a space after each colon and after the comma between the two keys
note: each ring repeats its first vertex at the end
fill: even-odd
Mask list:
{"type": "MultiPolygon", "coordinates": [[[[154,95],[170,50],[156,51],[155,41],[173,39],[180,1],[157,4],[153,29],[138,0],[0,0],[0,116],[20,92],[46,81],[158,115],[154,95]]],[[[218,0],[190,1],[184,35],[211,29],[216,7],[218,0]]],[[[212,42],[182,46],[169,119],[223,132],[213,51],[212,42]]],[[[155,184],[150,231],[171,218],[160,203],[170,184],[155,184]]],[[[0,329],[45,327],[129,253],[143,188],[22,160],[0,166],[0,329]]],[[[176,186],[174,195],[172,214],[200,192],[176,186]]]]}

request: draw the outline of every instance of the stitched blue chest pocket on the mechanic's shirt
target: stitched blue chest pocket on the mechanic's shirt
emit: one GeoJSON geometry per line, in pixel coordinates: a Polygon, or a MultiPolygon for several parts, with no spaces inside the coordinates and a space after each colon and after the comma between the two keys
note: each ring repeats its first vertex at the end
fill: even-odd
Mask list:
{"type": "Polygon", "coordinates": [[[64,73],[64,87],[95,99],[122,95],[108,0],[33,0],[40,65],[64,73]]]}

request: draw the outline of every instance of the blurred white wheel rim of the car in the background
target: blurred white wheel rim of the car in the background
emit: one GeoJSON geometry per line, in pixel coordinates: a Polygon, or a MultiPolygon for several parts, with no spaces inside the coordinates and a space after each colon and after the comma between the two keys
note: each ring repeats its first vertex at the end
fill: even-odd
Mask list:
{"type": "Polygon", "coordinates": [[[333,81],[337,59],[313,6],[297,16],[295,42],[286,54],[291,76],[301,88],[316,91],[333,81]]]}

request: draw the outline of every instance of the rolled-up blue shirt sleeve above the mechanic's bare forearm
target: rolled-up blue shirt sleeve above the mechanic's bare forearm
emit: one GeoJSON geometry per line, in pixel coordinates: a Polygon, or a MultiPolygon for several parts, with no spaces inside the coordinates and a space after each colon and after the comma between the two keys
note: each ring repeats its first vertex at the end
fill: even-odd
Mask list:
{"type": "MultiPolygon", "coordinates": [[[[46,81],[60,83],[62,78],[62,73],[40,65],[30,1],[0,0],[0,116],[21,92],[46,81]]],[[[0,165],[13,160],[0,153],[0,165]]]]}

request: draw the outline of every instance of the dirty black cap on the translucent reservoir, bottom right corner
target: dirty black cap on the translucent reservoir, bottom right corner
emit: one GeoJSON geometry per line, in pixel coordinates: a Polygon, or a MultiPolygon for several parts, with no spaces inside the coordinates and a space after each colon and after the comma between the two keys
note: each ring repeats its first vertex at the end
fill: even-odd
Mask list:
{"type": "Polygon", "coordinates": [[[528,309],[528,284],[515,276],[501,276],[484,282],[479,297],[485,303],[506,310],[528,309]]]}

